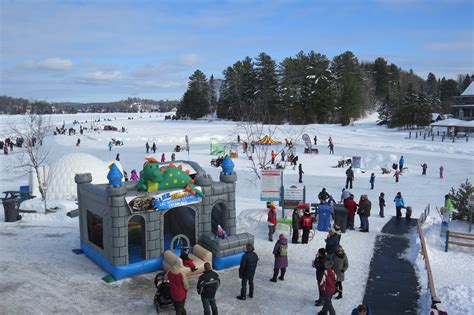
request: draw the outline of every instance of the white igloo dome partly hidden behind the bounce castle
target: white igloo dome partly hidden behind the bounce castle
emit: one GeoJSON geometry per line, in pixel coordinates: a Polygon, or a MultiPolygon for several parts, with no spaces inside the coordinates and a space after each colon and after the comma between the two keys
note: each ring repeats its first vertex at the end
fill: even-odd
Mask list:
{"type": "Polygon", "coordinates": [[[107,163],[90,154],[69,154],[59,159],[50,169],[48,178],[47,199],[77,198],[76,174],[91,173],[92,183],[107,183],[107,163]]]}

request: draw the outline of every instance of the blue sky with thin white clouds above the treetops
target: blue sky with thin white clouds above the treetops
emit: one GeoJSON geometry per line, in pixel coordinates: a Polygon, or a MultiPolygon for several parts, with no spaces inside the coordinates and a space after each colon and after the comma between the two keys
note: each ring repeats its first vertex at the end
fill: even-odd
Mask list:
{"type": "Polygon", "coordinates": [[[381,56],[426,77],[474,70],[474,2],[0,0],[0,95],[47,101],[179,99],[264,51],[381,56]]]}

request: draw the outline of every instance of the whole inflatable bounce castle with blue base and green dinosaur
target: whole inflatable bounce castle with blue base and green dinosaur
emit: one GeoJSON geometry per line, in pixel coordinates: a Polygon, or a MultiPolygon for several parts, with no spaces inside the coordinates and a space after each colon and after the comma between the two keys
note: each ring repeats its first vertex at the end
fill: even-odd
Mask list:
{"type": "Polygon", "coordinates": [[[184,246],[204,253],[215,269],[239,264],[254,238],[236,233],[237,175],[228,157],[222,168],[219,182],[195,162],[152,158],[138,182],[122,182],[114,164],[109,184],[77,174],[82,251],[115,279],[166,269],[167,257],[175,259],[184,246]],[[218,226],[226,238],[215,236],[218,226]]]}

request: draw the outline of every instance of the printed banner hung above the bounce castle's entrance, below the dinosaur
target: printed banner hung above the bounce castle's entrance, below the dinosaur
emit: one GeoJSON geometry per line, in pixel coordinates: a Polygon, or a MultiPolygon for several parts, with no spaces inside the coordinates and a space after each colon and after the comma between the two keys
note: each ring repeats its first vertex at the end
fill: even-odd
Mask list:
{"type": "MultiPolygon", "coordinates": [[[[197,187],[198,188],[198,187],[197,187]]],[[[171,208],[182,207],[201,202],[199,195],[179,189],[166,191],[153,196],[130,196],[125,197],[132,212],[164,211],[171,208]]]]}

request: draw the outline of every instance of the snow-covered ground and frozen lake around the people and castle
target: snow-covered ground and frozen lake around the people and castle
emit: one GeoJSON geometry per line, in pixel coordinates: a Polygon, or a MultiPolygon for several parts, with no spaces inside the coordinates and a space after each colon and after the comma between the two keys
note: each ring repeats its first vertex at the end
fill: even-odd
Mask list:
{"type": "MultiPolygon", "coordinates": [[[[190,159],[195,160],[218,179],[219,169],[209,165],[210,137],[217,136],[223,141],[235,139],[236,124],[224,121],[164,121],[164,114],[101,114],[110,118],[105,122],[116,127],[124,126],[128,132],[94,132],[84,136],[51,136],[46,141],[51,153],[48,164],[52,165],[65,154],[83,152],[92,154],[104,161],[112,161],[120,153],[121,163],[129,172],[139,170],[145,156],[145,142],[156,142],[159,155],[165,152],[169,158],[176,144],[184,145],[187,134],[191,143],[190,159]],[[116,117],[116,119],[115,119],[116,117]],[[128,117],[134,117],[133,120],[128,117]],[[80,147],[76,147],[81,138],[80,147]],[[124,146],[108,151],[111,138],[120,139],[124,146]]],[[[66,127],[74,120],[88,120],[90,114],[51,116],[54,124],[66,127]]],[[[97,119],[97,115],[95,115],[97,119]]],[[[21,120],[21,116],[0,116],[0,135],[8,135],[9,124],[21,120]]],[[[85,124],[86,125],[86,124],[85,124]]],[[[76,125],[77,127],[77,125],[76,125]]],[[[282,126],[276,138],[283,139],[286,132],[294,126],[282,126]]],[[[439,237],[440,222],[436,218],[435,206],[440,206],[443,196],[451,187],[458,187],[466,178],[474,179],[474,143],[456,143],[407,139],[408,132],[388,130],[376,126],[375,116],[358,121],[352,126],[307,125],[301,126],[311,137],[318,135],[320,155],[305,155],[303,146],[297,146],[299,162],[305,172],[303,181],[308,199],[316,202],[317,194],[325,187],[339,199],[345,183],[345,169],[333,168],[344,157],[361,156],[367,170],[357,173],[352,192],[358,198],[368,194],[372,200],[370,233],[350,231],[343,235],[341,244],[349,258],[349,270],[344,281],[344,298],[334,301],[337,313],[349,314],[363,299],[368,269],[376,235],[389,217],[378,217],[377,197],[385,192],[386,214],[395,214],[393,198],[402,192],[407,205],[413,207],[414,217],[418,217],[426,204],[432,205],[432,215],[426,223],[429,255],[438,288],[438,294],[450,314],[471,314],[474,309],[472,278],[463,277],[460,271],[473,265],[474,253],[470,249],[453,248],[444,253],[443,240],[439,237]],[[327,139],[331,136],[335,144],[335,155],[329,155],[327,139]],[[382,175],[380,167],[404,155],[409,171],[399,183],[392,175],[382,175]],[[428,164],[428,175],[421,176],[420,165],[428,164]],[[438,168],[444,166],[445,178],[440,180],[438,168]],[[376,174],[375,189],[370,190],[370,173],[376,174]],[[434,213],[433,213],[434,212],[434,213]],[[454,271],[448,271],[454,270],[454,271]]],[[[15,156],[0,154],[0,191],[17,190],[27,184],[27,176],[13,168],[15,156]]],[[[177,159],[187,159],[186,152],[176,154],[177,159]]],[[[290,266],[284,282],[271,283],[273,244],[266,240],[265,206],[259,201],[259,185],[251,176],[244,158],[234,160],[238,173],[237,211],[238,229],[256,235],[256,252],[260,256],[256,292],[253,300],[238,301],[240,282],[235,268],[221,271],[223,285],[218,292],[218,303],[223,314],[314,314],[314,299],[317,289],[315,271],[311,261],[317,249],[324,246],[326,233],[318,232],[308,245],[291,245],[289,248],[290,266]],[[262,218],[262,220],[260,220],[262,218]]],[[[130,172],[129,172],[130,173],[130,172]]],[[[285,185],[297,183],[297,171],[284,172],[285,185]]],[[[61,204],[60,204],[61,205],[61,204]]],[[[65,216],[70,204],[62,203],[63,210],[55,214],[27,214],[17,223],[4,223],[3,210],[0,214],[0,313],[150,313],[153,312],[152,280],[147,274],[125,279],[113,284],[104,283],[101,278],[105,272],[84,255],[75,255],[71,249],[79,247],[77,218],[65,216]]],[[[1,210],[1,209],[0,209],[1,210]]],[[[358,221],[358,219],[356,219],[358,221]]],[[[358,222],[357,222],[358,223],[358,222]]],[[[456,224],[455,224],[456,225],[456,224]]],[[[460,227],[461,228],[461,227],[460,227]]],[[[462,227],[464,228],[464,227],[462,227]]],[[[416,239],[413,241],[416,245],[416,239]]],[[[409,253],[420,272],[420,284],[426,290],[422,261],[415,253],[409,253]]],[[[196,279],[191,285],[196,284],[196,279]]],[[[423,292],[422,292],[423,293],[423,292]]],[[[194,290],[188,294],[186,302],[190,314],[201,314],[199,296],[194,290]]]]}

